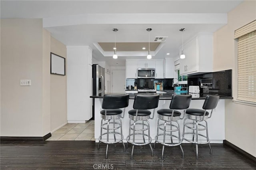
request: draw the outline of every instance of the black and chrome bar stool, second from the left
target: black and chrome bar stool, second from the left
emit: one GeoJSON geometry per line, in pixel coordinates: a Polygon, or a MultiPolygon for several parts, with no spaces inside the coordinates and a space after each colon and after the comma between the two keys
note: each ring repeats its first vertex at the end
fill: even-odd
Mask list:
{"type": "MultiPolygon", "coordinates": [[[[127,136],[127,145],[128,143],[132,144],[132,154],[133,156],[134,145],[142,146],[149,144],[152,156],[153,149],[151,146],[152,138],[150,137],[150,126],[148,119],[154,119],[155,109],[158,107],[159,95],[136,95],[134,98],[133,109],[128,111],[129,114],[129,135],[127,136]],[[150,118],[151,112],[148,109],[154,109],[153,116],[150,118]],[[133,121],[133,123],[131,123],[133,121]],[[132,133],[131,133],[132,130],[132,133]],[[144,131],[148,130],[148,134],[145,134],[144,131]],[[143,143],[136,142],[136,136],[142,136],[143,143]],[[147,140],[145,140],[145,136],[147,140]],[[132,137],[132,139],[131,139],[132,137]]],[[[138,140],[138,138],[137,138],[138,140]]]]}

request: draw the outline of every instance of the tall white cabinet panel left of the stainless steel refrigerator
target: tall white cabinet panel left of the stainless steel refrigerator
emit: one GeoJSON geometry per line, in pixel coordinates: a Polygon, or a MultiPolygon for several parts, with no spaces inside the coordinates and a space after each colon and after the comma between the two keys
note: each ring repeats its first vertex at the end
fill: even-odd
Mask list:
{"type": "Polygon", "coordinates": [[[85,123],[92,118],[92,49],[67,46],[67,120],[85,123]]]}

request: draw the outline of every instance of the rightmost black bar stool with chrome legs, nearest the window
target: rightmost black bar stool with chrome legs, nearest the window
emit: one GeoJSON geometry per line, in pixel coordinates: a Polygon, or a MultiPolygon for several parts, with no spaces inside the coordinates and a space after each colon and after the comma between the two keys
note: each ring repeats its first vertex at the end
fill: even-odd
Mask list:
{"type": "Polygon", "coordinates": [[[207,124],[207,119],[212,117],[212,111],[213,109],[216,108],[218,101],[219,101],[219,96],[214,96],[214,95],[207,95],[206,99],[204,101],[203,109],[187,109],[185,113],[185,119],[184,119],[184,125],[183,125],[183,139],[196,144],[196,159],[198,159],[198,144],[208,144],[210,148],[210,154],[212,154],[212,148],[210,145],[210,139],[208,137],[208,124],[207,124]],[[212,110],[209,116],[209,112],[207,110],[212,110]],[[185,123],[185,121],[189,119],[192,120],[193,123],[185,123]],[[198,122],[205,122],[205,125],[200,124],[198,122]],[[195,127],[196,126],[196,127],[195,127]],[[198,128],[200,126],[200,128],[198,128]],[[193,132],[185,132],[185,127],[192,129],[193,132]],[[199,134],[198,130],[206,130],[206,136],[203,134],[199,134]],[[196,131],[196,132],[195,132],[196,131]],[[184,137],[185,134],[192,134],[192,140],[187,139],[184,137]],[[194,136],[196,135],[196,141],[194,141],[194,136]],[[206,142],[198,142],[198,135],[203,136],[206,138],[206,142]]]}

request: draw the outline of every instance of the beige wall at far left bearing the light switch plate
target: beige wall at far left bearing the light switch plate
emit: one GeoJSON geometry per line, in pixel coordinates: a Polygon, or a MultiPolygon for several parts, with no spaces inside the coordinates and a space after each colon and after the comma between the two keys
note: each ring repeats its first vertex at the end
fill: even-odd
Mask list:
{"type": "Polygon", "coordinates": [[[50,132],[47,39],[42,19],[1,20],[1,136],[50,132]],[[20,86],[21,79],[31,79],[32,85],[20,86]]]}

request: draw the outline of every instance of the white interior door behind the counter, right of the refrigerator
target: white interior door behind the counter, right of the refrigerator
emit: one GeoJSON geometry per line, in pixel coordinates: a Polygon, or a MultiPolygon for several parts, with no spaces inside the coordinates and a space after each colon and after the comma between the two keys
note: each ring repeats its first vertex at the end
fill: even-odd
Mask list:
{"type": "Polygon", "coordinates": [[[125,70],[112,70],[112,93],[125,93],[125,70]]]}

